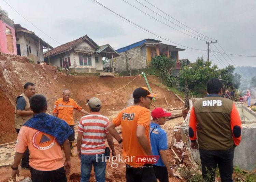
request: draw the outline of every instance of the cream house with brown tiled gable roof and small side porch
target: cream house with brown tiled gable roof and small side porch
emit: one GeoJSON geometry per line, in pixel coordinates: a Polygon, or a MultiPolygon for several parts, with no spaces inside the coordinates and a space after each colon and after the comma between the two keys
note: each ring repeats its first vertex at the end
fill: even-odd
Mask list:
{"type": "Polygon", "coordinates": [[[96,73],[103,72],[102,57],[113,59],[117,56],[120,56],[120,54],[109,44],[99,46],[85,35],[60,45],[49,51],[49,53],[45,52],[44,61],[49,61],[51,65],[64,68],[63,62],[67,58],[71,73],[96,73]]]}

